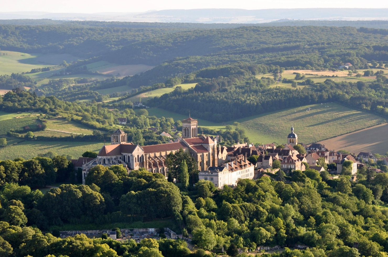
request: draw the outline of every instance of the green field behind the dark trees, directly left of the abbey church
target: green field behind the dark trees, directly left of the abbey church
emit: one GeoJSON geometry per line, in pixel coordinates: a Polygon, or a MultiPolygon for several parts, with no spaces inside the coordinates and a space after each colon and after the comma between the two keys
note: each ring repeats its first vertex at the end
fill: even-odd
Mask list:
{"type": "Polygon", "coordinates": [[[31,159],[37,154],[50,151],[78,158],[86,151],[99,152],[103,145],[104,142],[23,141],[21,138],[7,138],[7,146],[0,148],[0,160],[13,160],[16,157],[31,159]]]}

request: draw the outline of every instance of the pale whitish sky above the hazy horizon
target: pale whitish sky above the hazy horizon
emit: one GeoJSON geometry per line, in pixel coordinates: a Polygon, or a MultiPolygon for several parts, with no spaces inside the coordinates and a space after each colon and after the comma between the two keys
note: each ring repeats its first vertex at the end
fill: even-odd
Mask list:
{"type": "Polygon", "coordinates": [[[377,0],[2,0],[0,12],[145,12],[166,9],[278,9],[278,8],[388,8],[388,1],[377,0]]]}

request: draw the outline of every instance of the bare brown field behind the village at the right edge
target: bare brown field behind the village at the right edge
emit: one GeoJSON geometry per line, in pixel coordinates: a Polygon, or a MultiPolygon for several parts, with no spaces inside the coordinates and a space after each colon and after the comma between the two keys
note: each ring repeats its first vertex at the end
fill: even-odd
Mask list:
{"type": "Polygon", "coordinates": [[[388,124],[380,124],[353,133],[320,141],[332,150],[345,149],[356,155],[359,152],[386,154],[388,152],[388,124]]]}

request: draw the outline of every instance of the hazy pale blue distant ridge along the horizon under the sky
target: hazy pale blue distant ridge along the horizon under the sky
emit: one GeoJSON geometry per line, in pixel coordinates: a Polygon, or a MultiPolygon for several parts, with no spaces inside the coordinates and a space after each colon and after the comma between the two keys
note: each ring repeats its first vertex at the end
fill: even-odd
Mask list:
{"type": "Polygon", "coordinates": [[[95,14],[0,12],[0,19],[52,19],[64,21],[193,22],[256,24],[281,19],[294,20],[388,20],[388,9],[298,8],[298,9],[190,9],[144,13],[107,12],[95,14]]]}

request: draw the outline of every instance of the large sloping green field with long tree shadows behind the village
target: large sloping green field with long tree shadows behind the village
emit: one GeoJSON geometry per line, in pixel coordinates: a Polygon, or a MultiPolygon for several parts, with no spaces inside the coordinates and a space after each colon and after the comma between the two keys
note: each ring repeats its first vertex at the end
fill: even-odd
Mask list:
{"type": "MultiPolygon", "coordinates": [[[[156,117],[172,117],[174,120],[187,118],[158,108],[147,111],[149,115],[156,117]]],[[[226,124],[233,125],[235,121],[240,123],[252,143],[285,143],[291,126],[294,126],[298,141],[306,144],[385,122],[383,117],[374,114],[349,109],[336,103],[323,103],[246,117],[225,124],[199,119],[198,126],[219,130],[225,129],[226,124]],[[307,111],[308,108],[311,110],[307,111]]]]}

